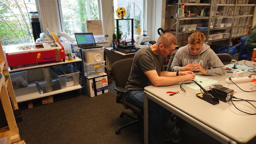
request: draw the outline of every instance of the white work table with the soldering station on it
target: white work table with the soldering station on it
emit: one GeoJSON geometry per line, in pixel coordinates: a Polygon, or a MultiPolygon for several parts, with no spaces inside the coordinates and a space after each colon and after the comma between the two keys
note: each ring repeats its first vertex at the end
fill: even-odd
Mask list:
{"type": "MultiPolygon", "coordinates": [[[[244,60],[239,61],[244,65],[244,60]]],[[[252,66],[256,62],[246,61],[246,64],[252,66]]],[[[244,76],[254,74],[246,72],[244,76]]],[[[232,73],[226,73],[223,76],[206,76],[219,82],[224,87],[233,89],[235,97],[256,100],[256,92],[243,92],[235,84],[225,82],[226,78],[232,76],[232,73]]],[[[251,82],[237,83],[237,85],[246,91],[252,91],[251,82]]],[[[180,90],[180,84],[154,87],[147,86],[144,91],[144,143],[148,143],[148,99],[155,101],[173,114],[184,119],[196,128],[210,135],[221,143],[255,143],[256,142],[256,115],[248,115],[237,110],[231,103],[220,101],[217,105],[212,105],[198,97],[196,93],[199,90],[191,89],[185,85],[182,86],[186,93],[180,90]],[[180,92],[173,96],[166,94],[167,91],[180,92]]],[[[208,89],[209,87],[204,87],[208,89]]],[[[245,101],[234,101],[236,107],[249,113],[255,113],[256,110],[245,101]]],[[[256,105],[256,102],[251,102],[256,105]]]]}

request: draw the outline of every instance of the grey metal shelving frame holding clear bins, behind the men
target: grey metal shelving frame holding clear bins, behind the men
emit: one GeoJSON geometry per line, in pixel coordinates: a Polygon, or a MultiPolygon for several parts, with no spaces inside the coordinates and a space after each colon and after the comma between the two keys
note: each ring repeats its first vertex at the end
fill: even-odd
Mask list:
{"type": "MultiPolygon", "coordinates": [[[[252,14],[250,15],[235,15],[236,14],[236,10],[237,10],[237,6],[255,6],[256,4],[213,4],[213,1],[211,1],[211,4],[201,4],[201,3],[181,3],[181,0],[179,0],[178,3],[175,4],[168,4],[165,5],[166,6],[166,10],[168,7],[172,8],[176,8],[176,13],[178,12],[178,8],[180,4],[184,4],[185,6],[210,6],[210,16],[209,17],[185,17],[185,18],[181,18],[181,17],[170,17],[170,18],[165,18],[165,20],[174,20],[174,24],[172,24],[171,26],[176,25],[176,31],[171,31],[172,33],[175,33],[175,36],[178,37],[179,34],[185,34],[185,33],[193,33],[193,32],[197,32],[197,31],[207,31],[207,38],[206,38],[206,42],[214,42],[214,41],[221,41],[221,40],[229,40],[229,46],[228,46],[228,53],[229,53],[229,49],[230,49],[230,44],[233,38],[237,38],[237,37],[243,37],[243,36],[248,36],[248,35],[243,35],[243,36],[235,36],[232,37],[232,32],[233,32],[233,28],[242,28],[242,27],[249,27],[251,25],[246,25],[246,26],[234,26],[234,22],[232,24],[231,27],[223,27],[223,28],[210,28],[210,23],[211,23],[211,19],[212,18],[236,18],[236,17],[253,17],[252,14]],[[212,16],[212,7],[213,6],[234,6],[234,14],[231,16],[212,16]],[[208,20],[208,29],[207,30],[193,30],[193,31],[180,31],[179,32],[179,25],[180,25],[180,20],[208,20]],[[210,34],[210,31],[212,30],[221,30],[221,29],[230,29],[230,37],[229,38],[222,38],[222,39],[216,39],[216,40],[208,40],[208,35],[210,34]]],[[[255,10],[255,7],[254,7],[255,10]]],[[[252,13],[254,13],[254,10],[252,13]]],[[[167,10],[168,11],[168,10],[167,10]]],[[[169,12],[169,11],[168,11],[169,12]]],[[[169,12],[170,13],[170,12],[169,12]]],[[[169,28],[168,28],[169,29],[169,28]]]]}

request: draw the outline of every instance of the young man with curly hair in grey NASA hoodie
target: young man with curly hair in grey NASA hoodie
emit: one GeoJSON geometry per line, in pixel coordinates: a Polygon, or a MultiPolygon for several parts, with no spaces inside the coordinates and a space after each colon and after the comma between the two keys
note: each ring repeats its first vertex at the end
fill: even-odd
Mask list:
{"type": "Polygon", "coordinates": [[[223,63],[204,41],[203,33],[192,33],[188,37],[188,44],[176,52],[172,71],[198,71],[207,76],[224,75],[226,69],[223,63]]]}

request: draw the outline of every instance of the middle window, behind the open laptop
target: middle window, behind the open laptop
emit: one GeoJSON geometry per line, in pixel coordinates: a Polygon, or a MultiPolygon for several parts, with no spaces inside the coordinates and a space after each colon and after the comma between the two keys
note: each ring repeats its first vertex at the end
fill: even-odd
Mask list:
{"type": "Polygon", "coordinates": [[[59,0],[62,31],[87,32],[86,20],[99,20],[98,0],[59,0]]]}

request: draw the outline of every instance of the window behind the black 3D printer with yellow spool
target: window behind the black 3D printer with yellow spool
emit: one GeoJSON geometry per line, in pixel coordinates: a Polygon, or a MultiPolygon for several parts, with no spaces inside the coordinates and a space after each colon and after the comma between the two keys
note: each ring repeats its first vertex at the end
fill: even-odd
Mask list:
{"type": "MultiPolygon", "coordinates": [[[[143,33],[143,0],[114,0],[114,11],[119,7],[124,7],[126,9],[126,16],[124,19],[133,19],[133,35],[138,35],[137,28],[141,29],[141,35],[143,33]]],[[[120,19],[114,14],[115,19],[120,19]]],[[[115,20],[116,29],[116,20],[115,20]]],[[[124,36],[131,36],[131,20],[121,20],[119,21],[120,33],[124,36]]]]}

